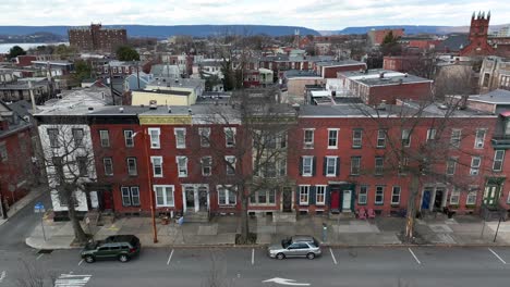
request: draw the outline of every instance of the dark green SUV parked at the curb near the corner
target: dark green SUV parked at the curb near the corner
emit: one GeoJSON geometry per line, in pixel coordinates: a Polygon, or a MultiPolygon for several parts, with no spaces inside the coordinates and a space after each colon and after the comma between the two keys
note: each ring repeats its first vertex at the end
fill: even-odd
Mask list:
{"type": "Polygon", "coordinates": [[[113,235],[105,240],[88,242],[82,250],[82,258],[87,263],[102,259],[127,262],[139,254],[141,248],[139,239],[134,235],[113,235]]]}

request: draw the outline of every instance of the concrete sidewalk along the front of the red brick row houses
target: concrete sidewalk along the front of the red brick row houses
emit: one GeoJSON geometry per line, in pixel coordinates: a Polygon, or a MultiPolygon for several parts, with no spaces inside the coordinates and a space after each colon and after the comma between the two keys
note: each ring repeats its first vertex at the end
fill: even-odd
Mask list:
{"type": "MultiPolygon", "coordinates": [[[[496,244],[493,242],[497,222],[484,222],[474,215],[458,215],[454,219],[418,220],[416,222],[417,245],[437,246],[509,246],[510,222],[501,222],[496,244]],[[484,230],[482,236],[482,229],[484,230]]],[[[134,234],[145,247],[221,247],[234,246],[235,234],[240,232],[238,217],[219,216],[209,223],[175,223],[161,225],[157,221],[158,244],[153,242],[153,227],[149,217],[124,217],[112,224],[98,226],[88,230],[100,240],[116,234],[134,234]]],[[[250,220],[251,232],[257,234],[257,245],[278,242],[295,234],[308,234],[329,246],[399,246],[402,241],[399,234],[403,229],[404,219],[377,217],[369,221],[340,220],[331,221],[320,216],[300,217],[294,223],[274,223],[271,217],[250,220]],[[327,226],[323,238],[323,223],[327,226]]],[[[70,222],[45,220],[47,240],[38,225],[26,244],[36,249],[68,249],[73,247],[73,229],[70,222]]]]}

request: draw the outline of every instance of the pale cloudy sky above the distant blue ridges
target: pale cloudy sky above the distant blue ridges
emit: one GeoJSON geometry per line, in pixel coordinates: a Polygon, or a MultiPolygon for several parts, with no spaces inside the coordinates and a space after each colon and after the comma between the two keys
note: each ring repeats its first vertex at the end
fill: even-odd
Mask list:
{"type": "Polygon", "coordinates": [[[0,0],[0,25],[263,24],[336,30],[373,25],[467,26],[473,11],[510,23],[508,0],[0,0]]]}

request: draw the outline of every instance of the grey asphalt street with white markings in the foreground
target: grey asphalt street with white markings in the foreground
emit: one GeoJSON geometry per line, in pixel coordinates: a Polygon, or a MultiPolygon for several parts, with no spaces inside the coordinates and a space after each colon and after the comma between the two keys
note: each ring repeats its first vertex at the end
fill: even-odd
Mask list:
{"type": "Polygon", "coordinates": [[[508,263],[510,248],[496,247],[325,248],[315,260],[282,261],[269,259],[264,249],[145,248],[127,263],[93,264],[83,262],[78,250],[25,249],[0,251],[0,286],[20,286],[16,282],[27,276],[27,269],[66,287],[508,286],[508,263]]]}

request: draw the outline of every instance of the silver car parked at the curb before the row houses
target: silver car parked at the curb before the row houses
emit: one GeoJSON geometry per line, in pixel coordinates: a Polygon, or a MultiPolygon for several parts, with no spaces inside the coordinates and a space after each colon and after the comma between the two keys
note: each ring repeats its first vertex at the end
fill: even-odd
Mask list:
{"type": "Polygon", "coordinates": [[[280,244],[271,245],[267,248],[270,258],[286,259],[304,257],[314,259],[321,254],[317,239],[307,235],[296,235],[281,240],[280,244]]]}

